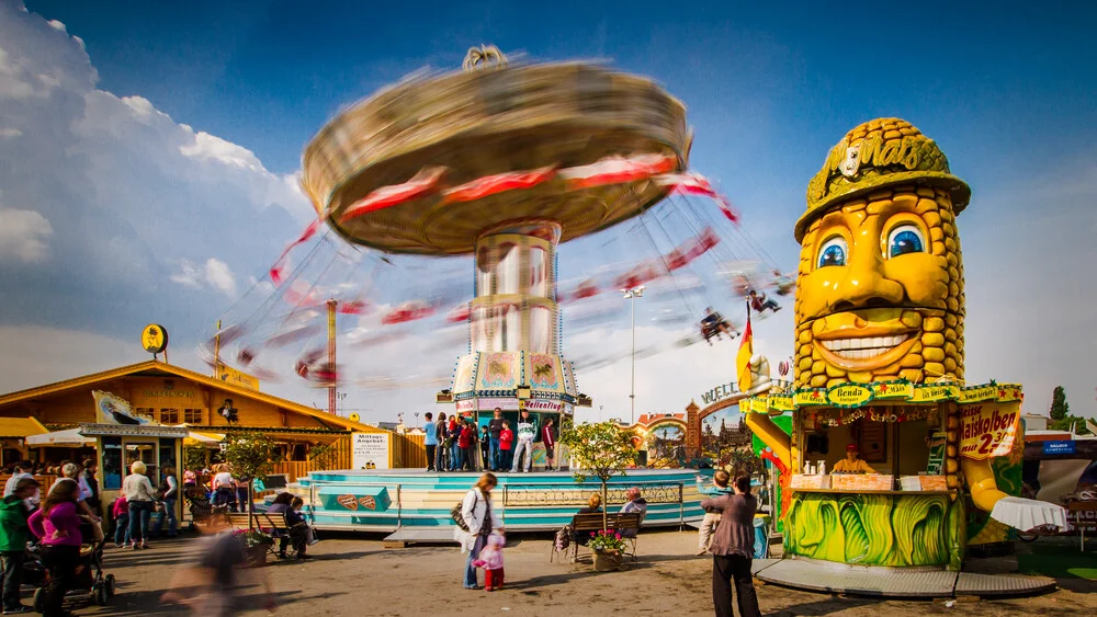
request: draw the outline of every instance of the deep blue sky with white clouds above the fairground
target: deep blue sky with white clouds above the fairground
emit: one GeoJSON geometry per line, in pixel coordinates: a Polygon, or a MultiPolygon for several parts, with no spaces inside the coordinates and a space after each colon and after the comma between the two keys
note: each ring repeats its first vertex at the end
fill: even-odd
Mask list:
{"type": "MultiPolygon", "coordinates": [[[[4,4],[7,16],[19,7],[4,4]]],[[[162,126],[155,134],[149,133],[152,128],[137,130],[131,124],[116,127],[106,122],[80,128],[87,158],[79,163],[87,165],[81,173],[91,178],[88,182],[100,204],[84,204],[81,212],[101,207],[121,221],[149,216],[150,221],[170,218],[184,227],[191,221],[195,229],[188,230],[193,237],[154,239],[146,236],[147,227],[133,225],[124,239],[81,252],[80,242],[89,240],[75,231],[66,236],[58,222],[65,207],[82,204],[79,196],[87,188],[72,185],[66,198],[55,199],[54,210],[42,210],[52,231],[39,229],[47,243],[65,237],[65,252],[52,253],[55,259],[49,263],[23,260],[18,267],[0,261],[0,283],[29,289],[25,300],[0,309],[0,327],[103,336],[115,341],[118,355],[124,355],[121,341],[139,329],[148,310],[111,311],[110,299],[126,297],[136,306],[156,306],[161,298],[180,297],[168,283],[176,276],[190,292],[186,300],[163,301],[158,315],[179,322],[181,341],[195,342],[200,323],[231,306],[247,288],[247,278],[261,275],[282,239],[293,236],[297,221],[307,216],[299,196],[290,188],[283,194],[279,186],[292,184],[304,144],[324,122],[402,76],[425,66],[455,68],[471,45],[494,43],[536,60],[606,58],[617,68],[665,84],[689,107],[689,122],[697,132],[692,165],[722,182],[747,216],[753,235],[787,267],[798,254],[792,224],[804,207],[804,187],[826,151],[866,119],[886,115],[911,121],[938,140],[953,172],[974,191],[971,207],[960,218],[968,266],[969,375],[1025,381],[1030,402],[1038,401],[1040,408],[1050,399],[1051,387],[1065,382],[1075,409],[1087,413],[1097,409],[1093,359],[1097,322],[1089,309],[1097,301],[1097,277],[1088,268],[1097,258],[1092,248],[1097,221],[1088,209],[1097,196],[1097,54],[1092,43],[1097,7],[1083,2],[595,4],[536,4],[534,10],[498,2],[250,2],[228,8],[27,2],[30,11],[41,16],[14,20],[0,30],[0,48],[9,59],[23,54],[80,76],[82,81],[72,91],[83,98],[86,108],[82,116],[75,107],[66,111],[65,122],[82,117],[88,124],[92,117],[88,110],[100,108],[94,102],[111,98],[115,106],[122,101],[128,110],[147,111],[137,104],[139,99],[170,116],[157,121],[162,126]],[[68,35],[79,36],[86,57],[73,48],[73,39],[44,31],[46,20],[63,22],[68,35]],[[194,136],[202,133],[218,141],[194,136]],[[106,160],[120,164],[159,160],[148,155],[157,139],[170,144],[172,152],[179,139],[214,144],[217,148],[202,150],[208,156],[191,159],[204,165],[230,160],[229,171],[236,175],[192,170],[165,159],[148,172],[158,180],[152,186],[148,174],[102,169],[104,150],[116,153],[106,160]],[[241,169],[255,173],[239,175],[241,169]],[[134,180],[140,176],[144,180],[134,180]],[[223,190],[225,183],[233,188],[223,190]],[[165,186],[179,199],[170,206],[157,203],[170,201],[159,196],[165,186]],[[135,203],[126,209],[118,203],[136,196],[144,196],[139,207],[135,203]],[[256,208],[255,214],[228,212],[246,206],[256,208]],[[171,214],[168,208],[179,212],[171,214]],[[237,228],[249,228],[249,238],[200,232],[203,224],[194,221],[203,216],[224,216],[237,228]],[[257,238],[260,233],[265,238],[257,238]],[[229,244],[241,245],[218,249],[229,244]],[[134,272],[88,266],[78,272],[77,285],[66,278],[75,276],[71,262],[58,265],[69,260],[92,263],[88,255],[100,253],[105,264],[121,260],[134,272]],[[211,259],[217,263],[211,264],[211,259]],[[146,262],[147,267],[138,267],[146,262]],[[224,271],[218,264],[233,273],[233,285],[219,276],[224,271]],[[185,276],[189,272],[204,278],[185,276]],[[106,284],[101,278],[117,281],[106,284]],[[151,300],[149,295],[133,295],[138,281],[155,289],[151,300]],[[196,285],[203,296],[194,295],[196,285]],[[79,310],[81,302],[98,310],[79,310]],[[44,310],[44,305],[49,308],[44,310]]],[[[44,101],[43,108],[31,111],[0,106],[0,118],[10,114],[13,122],[25,122],[12,125],[21,133],[14,139],[36,139],[34,122],[49,124],[53,116],[47,112],[60,114],[68,110],[65,105],[77,105],[71,98],[44,101]]],[[[64,150],[66,138],[59,134],[49,141],[55,150],[64,150]]],[[[81,150],[55,152],[49,147],[42,140],[34,151],[41,150],[43,160],[56,157],[76,164],[72,151],[81,150]]],[[[45,182],[27,179],[26,173],[7,178],[0,173],[0,206],[36,210],[35,195],[68,181],[54,179],[48,187],[45,182]]],[[[117,227],[105,226],[102,232],[117,227]]],[[[771,357],[787,355],[790,318],[769,320],[759,330],[759,336],[774,347],[771,357]]],[[[10,344],[21,342],[15,347],[25,350],[21,354],[39,353],[29,340],[15,330],[0,336],[10,344]]],[[[656,363],[670,361],[646,362],[657,373],[656,363]]],[[[54,372],[69,370],[48,374],[52,378],[103,368],[48,364],[54,372]]],[[[607,369],[610,373],[600,381],[613,382],[619,369],[607,369]]],[[[0,382],[0,390],[41,380],[21,375],[0,382]]],[[[700,384],[723,380],[716,373],[697,376],[693,390],[699,393],[706,389],[700,384]]],[[[648,399],[658,401],[653,404],[675,411],[688,401],[674,401],[690,396],[679,392],[674,399],[657,385],[651,388],[648,399]]],[[[423,395],[405,392],[394,404],[412,404],[423,395]]],[[[621,396],[607,390],[603,399],[621,396]]]]}

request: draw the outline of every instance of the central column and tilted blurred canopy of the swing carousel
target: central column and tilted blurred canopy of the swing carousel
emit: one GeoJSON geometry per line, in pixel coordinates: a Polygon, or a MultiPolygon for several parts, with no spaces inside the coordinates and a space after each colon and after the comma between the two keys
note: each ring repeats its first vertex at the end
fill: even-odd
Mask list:
{"type": "Polygon", "coordinates": [[[342,112],[304,153],[303,185],[349,242],[473,254],[468,354],[438,395],[460,413],[589,404],[561,350],[558,244],[642,214],[685,171],[685,106],[647,79],[585,62],[411,79],[342,112]]]}

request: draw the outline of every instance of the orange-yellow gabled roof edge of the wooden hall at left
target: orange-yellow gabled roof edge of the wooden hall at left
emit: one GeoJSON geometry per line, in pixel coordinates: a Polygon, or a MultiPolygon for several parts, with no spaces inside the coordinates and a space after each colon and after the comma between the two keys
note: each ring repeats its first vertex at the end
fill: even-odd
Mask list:
{"type": "MultiPolygon", "coordinates": [[[[303,405],[301,403],[295,403],[291,400],[260,392],[258,390],[235,386],[227,381],[222,381],[220,379],[215,379],[213,377],[210,377],[208,375],[202,375],[201,373],[195,373],[188,368],[183,368],[181,366],[174,366],[156,359],[149,359],[137,364],[131,364],[128,366],[120,366],[118,368],[112,368],[110,370],[103,370],[100,373],[92,373],[90,375],[84,375],[82,377],[75,377],[72,379],[66,379],[64,381],[57,381],[54,384],[46,384],[45,386],[38,386],[37,388],[29,388],[26,390],[9,392],[7,395],[0,396],[0,409],[29,399],[57,395],[68,390],[73,390],[76,388],[94,386],[95,384],[110,381],[111,379],[118,379],[121,377],[139,375],[142,373],[168,374],[168,375],[173,375],[176,377],[181,377],[183,379],[189,379],[191,381],[195,381],[203,386],[208,386],[211,388],[217,388],[218,390],[225,392],[230,392],[234,397],[247,398],[255,401],[264,402],[268,404],[273,404],[286,411],[299,413],[302,415],[308,415],[309,418],[316,419],[319,423],[324,425],[336,427],[343,431],[357,431],[361,433],[388,432],[385,431],[384,429],[377,429],[376,426],[370,426],[367,424],[362,424],[361,422],[353,422],[346,418],[332,415],[326,411],[320,411],[318,409],[303,405]]],[[[42,425],[38,424],[38,426],[42,425]]],[[[43,427],[42,432],[46,433],[47,431],[43,427]]]]}

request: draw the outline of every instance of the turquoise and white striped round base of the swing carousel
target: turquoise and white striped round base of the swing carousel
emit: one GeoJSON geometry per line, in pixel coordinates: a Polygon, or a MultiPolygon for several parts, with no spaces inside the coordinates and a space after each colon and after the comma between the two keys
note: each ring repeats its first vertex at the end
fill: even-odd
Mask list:
{"type": "MultiPolygon", "coordinates": [[[[314,471],[291,490],[305,498],[306,511],[321,530],[398,533],[393,541],[446,541],[442,536],[453,532],[450,510],[479,476],[420,469],[314,471]]],[[[601,485],[591,479],[576,482],[567,471],[496,476],[495,507],[508,529],[521,532],[559,529],[601,485]]],[[[699,477],[710,482],[711,470],[630,469],[627,476],[610,479],[609,510],[620,510],[625,491],[637,487],[648,502],[644,527],[681,527],[704,516],[699,477]]]]}

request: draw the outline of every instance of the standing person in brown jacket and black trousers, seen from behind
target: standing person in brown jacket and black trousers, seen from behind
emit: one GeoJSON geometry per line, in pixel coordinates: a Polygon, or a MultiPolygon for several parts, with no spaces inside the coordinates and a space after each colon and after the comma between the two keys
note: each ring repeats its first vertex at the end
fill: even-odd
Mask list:
{"type": "Polygon", "coordinates": [[[754,556],[754,515],[758,500],[750,494],[750,478],[735,479],[734,495],[701,501],[701,507],[720,512],[720,526],[712,537],[712,602],[717,617],[732,617],[732,580],[735,580],[740,617],[760,617],[758,596],[750,575],[754,556]]]}

